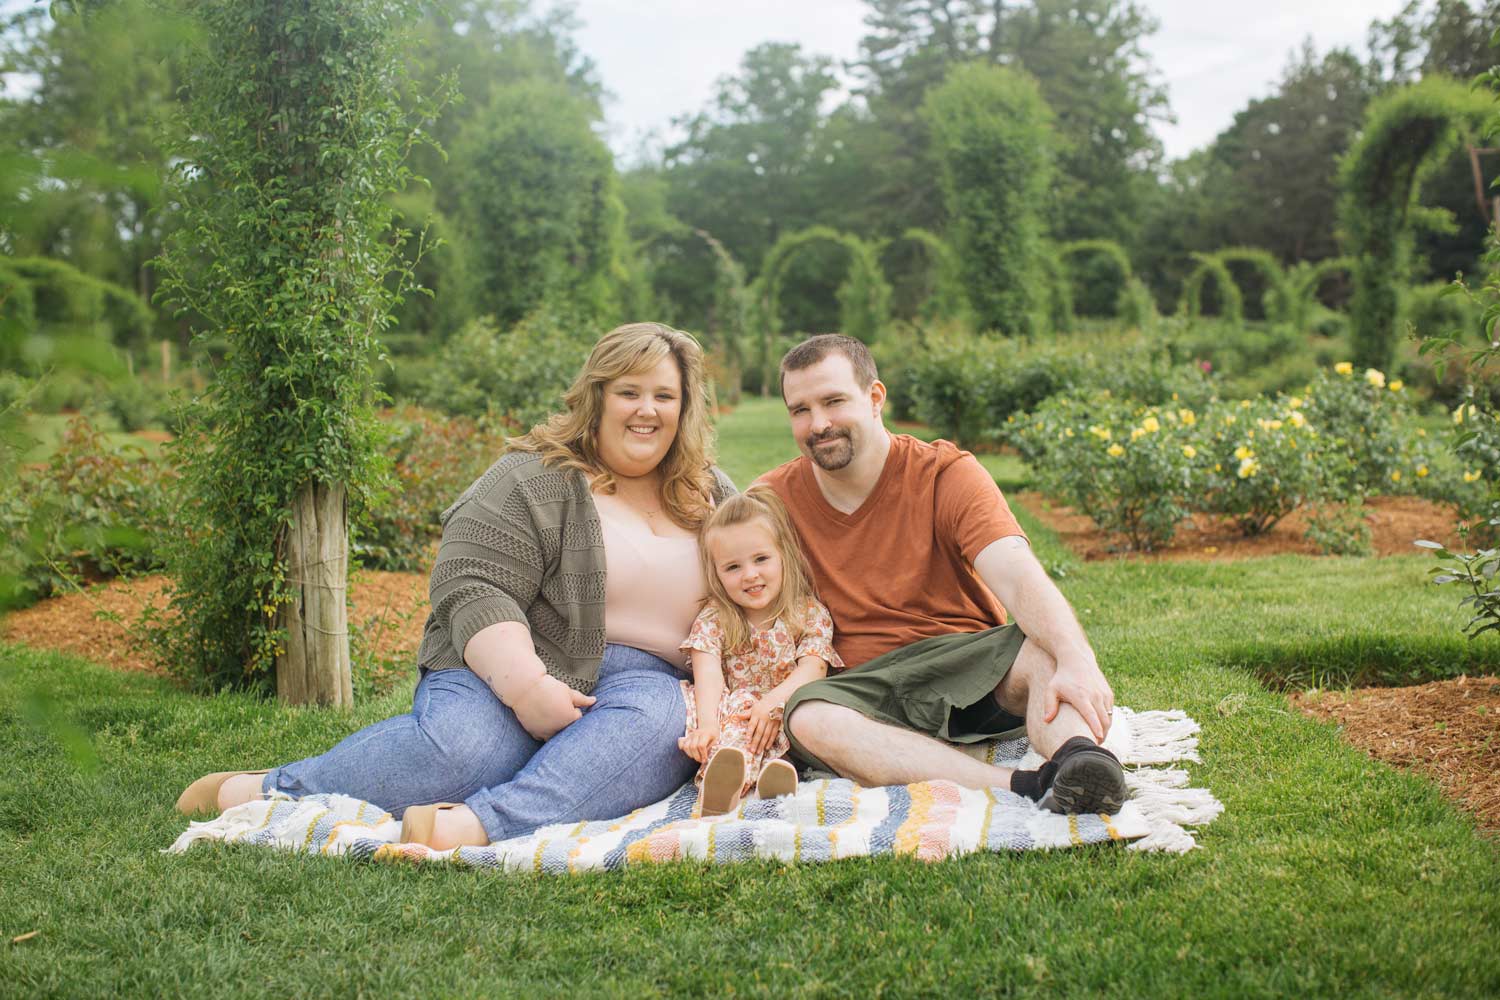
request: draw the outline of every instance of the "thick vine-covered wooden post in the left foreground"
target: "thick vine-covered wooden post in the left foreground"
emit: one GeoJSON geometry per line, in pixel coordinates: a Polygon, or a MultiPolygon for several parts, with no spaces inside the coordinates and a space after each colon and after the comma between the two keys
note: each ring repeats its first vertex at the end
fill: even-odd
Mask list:
{"type": "MultiPolygon", "coordinates": [[[[402,279],[387,195],[416,129],[402,0],[198,3],[162,295],[228,345],[180,438],[162,655],[210,685],[352,702],[348,517],[382,480],[372,363],[402,279]],[[394,279],[394,280],[393,280],[394,279]]],[[[418,102],[423,105],[423,102],[418,102]]],[[[434,108],[418,106],[418,115],[434,108]]]]}

